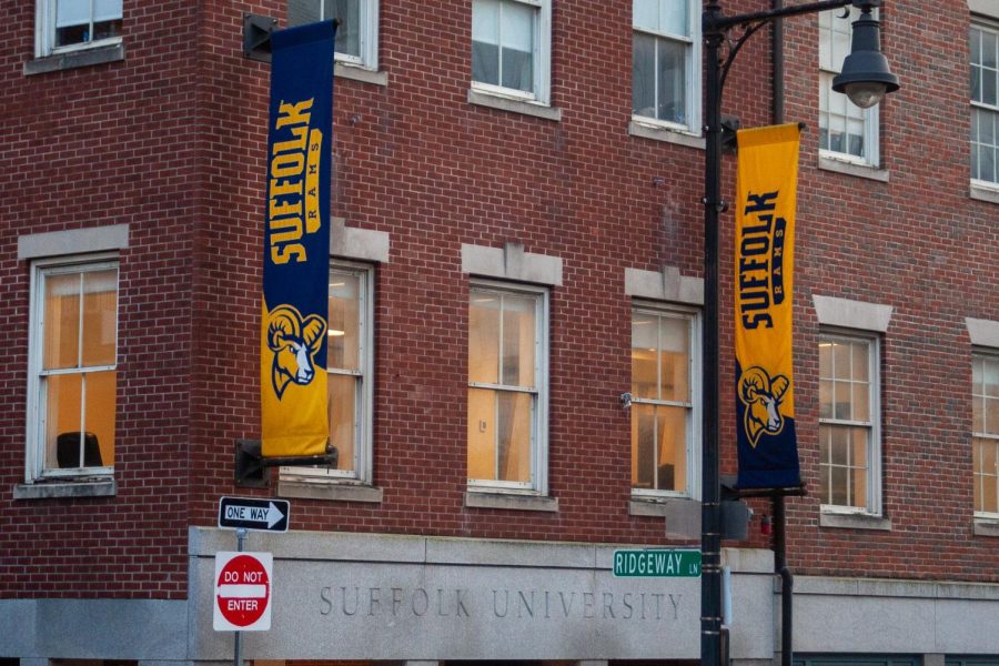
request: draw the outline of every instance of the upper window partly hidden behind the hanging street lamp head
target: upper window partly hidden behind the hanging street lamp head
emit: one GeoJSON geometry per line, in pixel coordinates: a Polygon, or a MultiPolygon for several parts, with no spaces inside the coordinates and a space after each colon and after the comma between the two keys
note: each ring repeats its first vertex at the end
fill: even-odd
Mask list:
{"type": "Polygon", "coordinates": [[[878,108],[860,109],[847,95],[833,91],[833,79],[850,53],[852,24],[860,10],[819,13],[819,149],[826,157],[878,165],[878,108]]]}

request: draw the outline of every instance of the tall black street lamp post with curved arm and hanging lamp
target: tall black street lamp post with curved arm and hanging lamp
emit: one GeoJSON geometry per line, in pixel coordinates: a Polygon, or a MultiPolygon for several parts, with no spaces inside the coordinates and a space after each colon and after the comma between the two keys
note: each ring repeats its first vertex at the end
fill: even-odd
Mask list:
{"type": "MultiPolygon", "coordinates": [[[[852,4],[861,10],[854,22],[852,49],[833,89],[846,93],[861,108],[877,104],[886,93],[898,90],[898,79],[888,70],[880,51],[879,23],[871,10],[881,0],[825,0],[726,17],[719,0],[708,0],[702,17],[705,46],[705,153],[704,175],[704,331],[703,331],[703,460],[702,460],[702,552],[700,663],[722,662],[722,516],[718,455],[718,215],[728,205],[722,199],[722,92],[739,49],[757,30],[777,19],[814,13],[852,4]],[[729,31],[741,32],[729,38],[729,31]],[[728,50],[723,60],[722,48],[728,50]]],[[[785,591],[785,596],[789,596],[785,591]]],[[[789,604],[789,598],[785,599],[789,604]]],[[[789,633],[785,630],[785,633],[789,633]]],[[[790,664],[790,636],[784,637],[784,664],[790,664]]]]}

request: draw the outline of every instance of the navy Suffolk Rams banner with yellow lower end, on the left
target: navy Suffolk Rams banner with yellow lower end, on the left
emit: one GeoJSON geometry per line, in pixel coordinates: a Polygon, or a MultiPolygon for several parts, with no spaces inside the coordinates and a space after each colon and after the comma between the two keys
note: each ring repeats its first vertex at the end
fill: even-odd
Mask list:
{"type": "Polygon", "coordinates": [[[326,330],[333,21],[271,36],[261,325],[264,457],[322,455],[330,438],[326,330]]]}

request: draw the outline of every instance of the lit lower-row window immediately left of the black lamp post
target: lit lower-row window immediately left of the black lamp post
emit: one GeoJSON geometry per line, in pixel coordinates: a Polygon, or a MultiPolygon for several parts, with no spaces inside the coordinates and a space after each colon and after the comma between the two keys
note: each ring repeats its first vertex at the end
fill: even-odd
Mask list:
{"type": "Polygon", "coordinates": [[[694,311],[632,312],[632,492],[696,496],[699,372],[694,311]]]}

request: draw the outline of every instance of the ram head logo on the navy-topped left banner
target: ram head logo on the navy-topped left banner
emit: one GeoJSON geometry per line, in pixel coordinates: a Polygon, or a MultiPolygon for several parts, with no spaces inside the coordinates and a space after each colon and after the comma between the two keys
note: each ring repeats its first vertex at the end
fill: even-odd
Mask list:
{"type": "Polygon", "coordinates": [[[274,353],[271,383],[278,400],[289,384],[304,386],[315,376],[313,356],[320,351],[326,322],[317,314],[304,320],[291,305],[279,305],[268,315],[268,346],[274,353]]]}

